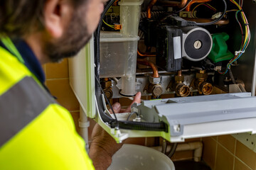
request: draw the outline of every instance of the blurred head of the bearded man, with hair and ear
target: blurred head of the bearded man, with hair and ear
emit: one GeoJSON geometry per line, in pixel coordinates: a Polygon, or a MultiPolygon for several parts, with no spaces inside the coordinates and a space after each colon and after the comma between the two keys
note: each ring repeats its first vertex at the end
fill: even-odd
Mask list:
{"type": "Polygon", "coordinates": [[[1,0],[0,33],[23,38],[42,61],[75,55],[90,40],[105,0],[1,0]],[[38,43],[40,45],[36,45],[38,43]]]}

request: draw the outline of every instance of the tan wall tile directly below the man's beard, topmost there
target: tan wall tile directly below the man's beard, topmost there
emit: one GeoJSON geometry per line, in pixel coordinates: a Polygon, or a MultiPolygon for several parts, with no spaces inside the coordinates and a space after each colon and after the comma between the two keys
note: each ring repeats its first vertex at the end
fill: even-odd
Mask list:
{"type": "Polygon", "coordinates": [[[68,78],[68,60],[64,59],[60,63],[46,64],[46,79],[68,78]]]}

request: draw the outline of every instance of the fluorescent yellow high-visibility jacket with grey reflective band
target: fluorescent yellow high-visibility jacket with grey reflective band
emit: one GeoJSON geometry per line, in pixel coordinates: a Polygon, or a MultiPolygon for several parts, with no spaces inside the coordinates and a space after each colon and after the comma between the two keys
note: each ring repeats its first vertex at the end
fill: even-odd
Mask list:
{"type": "Polygon", "coordinates": [[[70,113],[0,47],[0,169],[94,169],[70,113]]]}

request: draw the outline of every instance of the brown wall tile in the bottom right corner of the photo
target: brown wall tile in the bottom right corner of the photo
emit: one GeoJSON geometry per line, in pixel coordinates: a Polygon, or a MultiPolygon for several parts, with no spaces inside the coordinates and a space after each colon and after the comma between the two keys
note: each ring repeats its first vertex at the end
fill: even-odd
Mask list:
{"type": "Polygon", "coordinates": [[[237,142],[235,155],[245,162],[251,169],[256,169],[256,153],[247,148],[241,142],[237,142]]]}

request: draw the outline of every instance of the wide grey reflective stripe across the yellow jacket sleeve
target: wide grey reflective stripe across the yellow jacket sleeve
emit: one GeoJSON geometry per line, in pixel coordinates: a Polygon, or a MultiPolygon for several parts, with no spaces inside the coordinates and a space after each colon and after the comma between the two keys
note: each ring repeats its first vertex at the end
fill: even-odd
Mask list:
{"type": "Polygon", "coordinates": [[[54,102],[32,77],[23,78],[1,95],[0,147],[54,102]]]}

